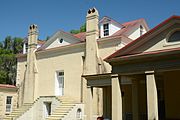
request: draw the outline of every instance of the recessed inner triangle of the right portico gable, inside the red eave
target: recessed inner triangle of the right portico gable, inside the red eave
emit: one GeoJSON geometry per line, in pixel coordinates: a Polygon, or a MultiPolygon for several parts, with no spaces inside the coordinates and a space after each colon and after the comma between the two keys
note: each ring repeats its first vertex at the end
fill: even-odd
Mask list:
{"type": "Polygon", "coordinates": [[[147,38],[148,40],[145,40],[146,42],[135,48],[131,53],[154,52],[178,48],[180,47],[180,38],[179,41],[169,42],[171,35],[175,31],[180,31],[180,23],[174,23],[157,35],[152,36],[149,39],[147,38]]]}

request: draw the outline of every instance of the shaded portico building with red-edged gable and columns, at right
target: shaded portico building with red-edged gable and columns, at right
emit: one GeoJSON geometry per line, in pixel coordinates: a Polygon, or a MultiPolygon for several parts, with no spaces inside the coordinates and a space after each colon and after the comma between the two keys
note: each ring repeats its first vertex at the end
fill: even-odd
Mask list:
{"type": "Polygon", "coordinates": [[[170,17],[105,61],[112,65],[110,74],[84,76],[91,88],[103,88],[106,107],[112,107],[105,117],[180,119],[180,16],[170,17]]]}

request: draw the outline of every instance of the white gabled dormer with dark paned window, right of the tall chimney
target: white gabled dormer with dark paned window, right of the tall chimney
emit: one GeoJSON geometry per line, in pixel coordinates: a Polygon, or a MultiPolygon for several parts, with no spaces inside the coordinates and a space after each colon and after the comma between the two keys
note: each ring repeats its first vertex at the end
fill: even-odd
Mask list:
{"type": "Polygon", "coordinates": [[[123,25],[109,17],[103,17],[103,19],[99,21],[99,26],[101,38],[111,36],[123,27],[123,25]]]}

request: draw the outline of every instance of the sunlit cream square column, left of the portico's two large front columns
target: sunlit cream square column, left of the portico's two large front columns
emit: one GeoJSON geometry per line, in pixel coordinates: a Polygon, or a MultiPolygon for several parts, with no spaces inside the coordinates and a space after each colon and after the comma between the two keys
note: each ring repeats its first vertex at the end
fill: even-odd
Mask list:
{"type": "Polygon", "coordinates": [[[122,120],[122,96],[118,75],[111,76],[112,82],[112,120],[122,120]]]}

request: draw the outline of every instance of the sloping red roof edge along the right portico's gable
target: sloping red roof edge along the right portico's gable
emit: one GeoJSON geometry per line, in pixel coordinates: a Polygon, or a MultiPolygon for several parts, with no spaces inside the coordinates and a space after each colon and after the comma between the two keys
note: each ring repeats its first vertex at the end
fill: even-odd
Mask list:
{"type": "MultiPolygon", "coordinates": [[[[160,23],[159,25],[157,25],[156,27],[154,27],[153,29],[151,29],[150,31],[148,31],[147,33],[145,33],[144,35],[140,36],[139,38],[137,38],[136,40],[132,41],[131,43],[129,43],[128,45],[126,45],[125,47],[121,48],[120,50],[116,51],[115,53],[113,53],[112,55],[110,55],[109,57],[107,57],[105,60],[106,61],[110,61],[110,59],[116,58],[116,57],[120,57],[120,56],[125,56],[130,53],[123,53],[123,51],[130,49],[131,47],[137,48],[139,46],[137,46],[137,43],[141,42],[144,38],[146,38],[148,35],[151,35],[153,32],[155,32],[158,28],[164,26],[166,23],[168,23],[169,21],[171,21],[172,19],[180,19],[180,16],[171,16],[170,18],[168,18],[167,20],[163,21],[162,23],[160,23]]],[[[136,54],[136,53],[134,53],[136,54]]],[[[150,54],[150,53],[149,53],[150,54]]],[[[132,55],[132,54],[131,54],[132,55]]]]}

